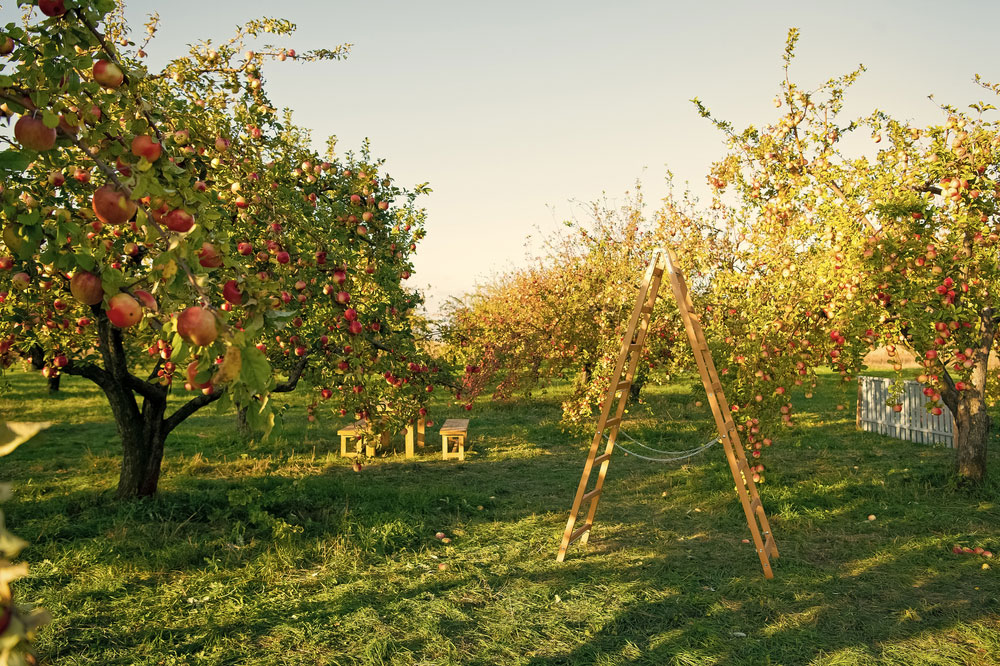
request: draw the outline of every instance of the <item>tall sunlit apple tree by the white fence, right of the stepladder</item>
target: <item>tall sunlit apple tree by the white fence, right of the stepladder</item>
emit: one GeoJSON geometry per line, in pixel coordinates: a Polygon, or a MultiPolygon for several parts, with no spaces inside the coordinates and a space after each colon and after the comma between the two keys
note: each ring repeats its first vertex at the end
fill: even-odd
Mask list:
{"type": "Polygon", "coordinates": [[[789,76],[797,37],[774,123],[738,130],[695,100],[731,150],[709,177],[710,231],[679,217],[670,229],[705,268],[703,301],[727,304],[707,319],[733,368],[735,406],[747,418],[752,396],[767,402],[780,390],[790,419],[790,382],[811,381],[818,365],[848,382],[875,346],[907,349],[923,362],[927,410],[946,405],[955,417],[958,475],[980,482],[1000,379],[989,368],[1000,323],[995,107],[942,106],[930,126],[882,111],[845,119],[845,91],[863,70],[803,88],[789,76]],[[729,256],[708,252],[706,237],[729,256]]]}

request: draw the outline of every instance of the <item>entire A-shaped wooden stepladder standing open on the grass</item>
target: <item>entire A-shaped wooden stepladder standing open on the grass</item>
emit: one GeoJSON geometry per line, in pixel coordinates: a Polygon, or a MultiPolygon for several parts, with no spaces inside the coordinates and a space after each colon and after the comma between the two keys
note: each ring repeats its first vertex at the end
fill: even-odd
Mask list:
{"type": "Polygon", "coordinates": [[[701,375],[701,382],[708,394],[708,402],[715,416],[715,425],[719,430],[719,441],[726,452],[726,460],[729,461],[729,469],[733,473],[733,480],[736,482],[736,493],[739,495],[740,503],[743,505],[743,512],[746,514],[747,525],[750,527],[750,534],[753,536],[753,543],[760,557],[761,567],[764,569],[766,578],[773,578],[771,571],[771,558],[778,557],[778,548],[774,542],[774,535],[771,533],[771,525],[767,520],[767,514],[760,501],[760,494],[757,486],[753,482],[753,472],[747,462],[743,451],[743,444],[740,441],[736,423],[733,421],[729,402],[722,391],[722,383],[715,370],[715,363],[705,342],[705,336],[701,328],[698,316],[694,314],[694,306],[691,296],[688,293],[684,276],[677,268],[677,259],[672,251],[658,249],[653,253],[653,257],[646,269],[642,284],[639,286],[639,295],[636,299],[635,308],[629,319],[628,327],[622,338],[621,351],[618,354],[618,362],[615,365],[614,373],[611,375],[611,383],[608,387],[607,395],[601,407],[601,415],[597,420],[597,432],[590,445],[587,454],[587,462],[583,466],[583,475],[580,478],[580,485],[577,486],[576,497],[573,499],[573,508],[570,510],[569,521],[566,523],[566,531],[563,533],[562,543],[559,546],[559,554],[556,560],[562,562],[566,557],[566,549],[569,545],[580,540],[586,543],[590,536],[590,529],[594,524],[594,515],[597,513],[597,503],[604,489],[604,479],[608,473],[608,464],[611,461],[611,454],[614,452],[615,440],[618,438],[618,430],[621,426],[622,416],[625,413],[625,406],[628,403],[629,389],[635,378],[635,371],[642,356],[642,350],[646,343],[646,335],[649,332],[649,320],[653,313],[653,306],[656,304],[656,296],[660,290],[664,274],[670,282],[670,288],[677,300],[677,307],[680,310],[681,319],[684,321],[684,328],[687,331],[688,341],[694,351],[695,362],[698,365],[698,372],[701,375]],[[604,441],[604,434],[607,432],[607,444],[604,452],[597,455],[601,442],[604,441]],[[590,485],[590,477],[594,466],[600,465],[597,474],[597,482],[592,490],[587,490],[590,485]],[[585,503],[587,507],[587,517],[583,525],[576,527],[577,517],[580,509],[585,503]]]}

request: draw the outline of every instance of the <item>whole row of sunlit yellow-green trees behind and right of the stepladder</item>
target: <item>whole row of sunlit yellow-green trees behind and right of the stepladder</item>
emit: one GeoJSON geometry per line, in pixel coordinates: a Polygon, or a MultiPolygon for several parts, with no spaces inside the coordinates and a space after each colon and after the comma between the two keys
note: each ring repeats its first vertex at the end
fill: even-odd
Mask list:
{"type": "MultiPolygon", "coordinates": [[[[754,456],[779,424],[794,423],[792,390],[811,397],[817,368],[852,382],[869,350],[906,349],[923,362],[928,411],[947,406],[955,416],[957,473],[979,482],[1000,382],[988,365],[1000,323],[996,109],[942,106],[941,123],[930,126],[882,111],[844,118],[845,93],[863,68],[803,88],[790,76],[797,39],[790,31],[771,124],[739,129],[694,100],[729,145],[708,176],[707,206],[671,194],[651,219],[634,205],[613,223],[598,216],[592,231],[564,238],[572,252],[457,303],[449,335],[502,387],[534,386],[547,376],[539,369],[594,371],[564,405],[567,421],[586,422],[635,298],[637,257],[667,245],[692,283],[754,456]],[[615,225],[635,231],[609,233],[615,225]]],[[[1000,94],[976,81],[991,99],[1000,94]]],[[[662,300],[649,365],[665,358],[664,372],[690,369],[676,309],[662,300]]],[[[481,376],[476,385],[491,383],[481,376]]]]}

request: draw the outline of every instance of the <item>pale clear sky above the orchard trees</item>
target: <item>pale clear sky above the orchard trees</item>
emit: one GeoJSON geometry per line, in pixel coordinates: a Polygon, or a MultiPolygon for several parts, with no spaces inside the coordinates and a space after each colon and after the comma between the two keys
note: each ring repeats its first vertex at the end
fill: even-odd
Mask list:
{"type": "MultiPolygon", "coordinates": [[[[138,35],[154,11],[153,67],[261,16],[296,23],[279,45],[298,51],[353,44],[345,61],[269,65],[268,94],[318,149],[367,137],[397,182],[430,183],[411,283],[431,312],[523,264],[526,238],[557,229],[573,202],[620,199],[641,180],[654,210],[667,169],[704,192],[725,145],[690,99],[738,127],[775,118],[790,27],[806,87],[867,67],[847,98],[858,115],[935,122],[928,95],[965,105],[984,97],[974,74],[1000,81],[993,0],[130,0],[138,35]]],[[[18,15],[0,0],[3,23],[18,15]]]]}

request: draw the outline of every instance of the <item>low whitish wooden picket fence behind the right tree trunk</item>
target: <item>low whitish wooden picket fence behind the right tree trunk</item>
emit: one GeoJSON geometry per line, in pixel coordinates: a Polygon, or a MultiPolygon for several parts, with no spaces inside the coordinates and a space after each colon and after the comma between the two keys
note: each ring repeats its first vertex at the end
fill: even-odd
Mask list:
{"type": "Polygon", "coordinates": [[[884,377],[858,377],[857,426],[897,439],[920,444],[955,445],[955,419],[947,407],[935,416],[927,411],[927,397],[919,382],[903,382],[899,396],[903,410],[895,411],[886,404],[892,380],[884,377]]]}

